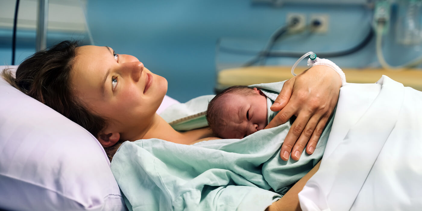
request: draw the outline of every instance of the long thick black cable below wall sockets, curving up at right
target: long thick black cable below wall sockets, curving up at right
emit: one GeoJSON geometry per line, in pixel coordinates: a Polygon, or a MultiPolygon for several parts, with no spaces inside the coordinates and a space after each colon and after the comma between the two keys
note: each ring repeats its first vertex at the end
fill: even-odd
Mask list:
{"type": "MultiPolygon", "coordinates": [[[[344,50],[344,51],[330,52],[330,53],[317,53],[316,52],[316,54],[320,58],[338,57],[338,56],[349,55],[351,53],[359,51],[360,49],[362,49],[363,47],[368,45],[368,43],[372,40],[373,36],[374,36],[374,31],[371,27],[371,29],[370,29],[368,35],[365,37],[365,39],[362,40],[361,43],[354,46],[353,48],[350,48],[350,49],[347,49],[347,50],[344,50]]],[[[220,47],[220,51],[224,51],[224,52],[227,52],[227,53],[238,53],[238,54],[244,54],[244,55],[255,55],[256,54],[256,51],[237,50],[237,49],[231,49],[231,48],[225,48],[225,47],[220,47]]],[[[297,58],[297,57],[303,56],[303,54],[305,54],[305,53],[306,52],[304,52],[304,53],[289,53],[289,52],[265,52],[265,51],[261,51],[261,52],[258,53],[258,55],[265,54],[268,57],[295,57],[295,58],[297,58]]]]}

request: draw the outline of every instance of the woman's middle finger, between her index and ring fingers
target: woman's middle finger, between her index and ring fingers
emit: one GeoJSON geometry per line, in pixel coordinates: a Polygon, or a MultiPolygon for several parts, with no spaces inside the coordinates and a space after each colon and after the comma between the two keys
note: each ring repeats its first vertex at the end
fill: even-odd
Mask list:
{"type": "MultiPolygon", "coordinates": [[[[281,145],[280,156],[282,160],[289,160],[289,155],[292,151],[293,145],[295,145],[296,140],[298,140],[300,134],[302,134],[303,128],[305,128],[308,123],[309,116],[309,113],[302,113],[302,115],[299,115],[295,122],[293,122],[289,132],[287,132],[287,136],[284,139],[283,144],[281,145]]],[[[298,147],[300,147],[300,145],[298,147]]],[[[303,148],[304,147],[305,145],[303,145],[303,148]]]]}

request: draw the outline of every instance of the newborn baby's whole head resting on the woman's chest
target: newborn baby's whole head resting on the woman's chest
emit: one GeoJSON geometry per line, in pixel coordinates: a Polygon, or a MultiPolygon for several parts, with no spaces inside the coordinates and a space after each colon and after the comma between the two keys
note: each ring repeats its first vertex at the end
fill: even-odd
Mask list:
{"type": "Polygon", "coordinates": [[[232,86],[209,102],[206,117],[216,136],[242,139],[267,126],[267,99],[257,88],[232,86]]]}

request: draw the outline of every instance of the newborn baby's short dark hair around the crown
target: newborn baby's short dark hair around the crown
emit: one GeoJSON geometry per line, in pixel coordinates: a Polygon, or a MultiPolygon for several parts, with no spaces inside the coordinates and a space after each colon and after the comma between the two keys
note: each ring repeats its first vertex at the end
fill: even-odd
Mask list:
{"type": "Polygon", "coordinates": [[[229,88],[226,88],[222,92],[218,93],[211,101],[208,103],[208,108],[206,112],[206,118],[208,121],[208,125],[210,126],[211,130],[214,133],[214,136],[221,137],[220,131],[221,128],[225,126],[225,123],[223,122],[223,111],[219,105],[222,104],[221,99],[222,96],[226,94],[239,94],[242,96],[250,96],[257,94],[254,91],[254,88],[249,86],[243,86],[243,85],[235,85],[230,86],[229,88]]]}

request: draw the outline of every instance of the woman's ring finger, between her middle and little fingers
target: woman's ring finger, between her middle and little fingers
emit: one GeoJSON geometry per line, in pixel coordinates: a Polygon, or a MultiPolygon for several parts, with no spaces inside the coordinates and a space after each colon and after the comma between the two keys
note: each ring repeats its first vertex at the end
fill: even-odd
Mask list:
{"type": "Polygon", "coordinates": [[[302,152],[303,152],[303,149],[305,149],[306,143],[308,143],[309,139],[314,133],[314,130],[317,127],[317,124],[320,118],[321,118],[320,115],[313,115],[309,119],[309,122],[306,124],[305,129],[303,129],[302,133],[300,134],[298,141],[296,141],[295,145],[293,146],[293,150],[292,150],[293,160],[299,160],[300,155],[302,155],[302,152]]]}

